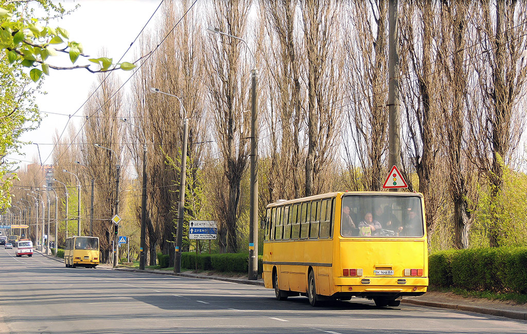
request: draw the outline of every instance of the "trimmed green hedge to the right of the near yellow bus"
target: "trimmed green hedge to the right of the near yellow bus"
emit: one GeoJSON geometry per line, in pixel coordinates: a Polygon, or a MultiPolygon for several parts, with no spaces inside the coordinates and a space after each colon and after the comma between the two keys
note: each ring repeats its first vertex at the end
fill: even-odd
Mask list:
{"type": "Polygon", "coordinates": [[[527,293],[527,247],[440,251],[428,274],[435,286],[527,293]]]}

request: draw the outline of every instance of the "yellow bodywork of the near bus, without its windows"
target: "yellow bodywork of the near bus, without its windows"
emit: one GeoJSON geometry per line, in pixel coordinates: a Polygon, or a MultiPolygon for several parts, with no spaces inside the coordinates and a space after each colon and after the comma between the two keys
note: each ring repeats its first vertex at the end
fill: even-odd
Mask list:
{"type": "MultiPolygon", "coordinates": [[[[310,272],[313,272],[318,301],[348,300],[357,296],[373,299],[379,306],[398,306],[402,296],[419,296],[426,292],[428,254],[422,194],[328,193],[269,204],[267,216],[270,218],[272,208],[285,208],[288,205],[309,201],[314,203],[321,199],[333,201],[331,235],[328,238],[271,240],[273,229],[276,231],[277,227],[272,219],[267,221],[263,278],[266,288],[275,289],[277,299],[304,294],[310,297],[310,302],[313,304],[308,287],[310,272]],[[416,198],[415,202],[421,205],[422,212],[421,235],[382,238],[343,237],[340,234],[341,210],[343,198],[347,196],[389,197],[395,200],[404,200],[404,197],[416,198]],[[362,269],[362,275],[345,276],[343,270],[346,269],[362,269]],[[405,276],[405,269],[416,270],[416,272],[419,269],[422,275],[405,276]],[[379,272],[380,270],[393,271],[393,274],[375,274],[376,270],[379,272]],[[274,275],[276,275],[276,280],[274,275]],[[275,285],[276,281],[277,285],[275,285]]],[[[289,208],[291,210],[292,207],[289,208]]],[[[285,232],[282,235],[285,235],[285,232]]],[[[410,272],[413,273],[413,271],[410,272]]],[[[315,303],[318,302],[315,300],[315,303]]]]}

